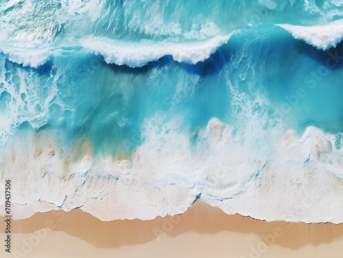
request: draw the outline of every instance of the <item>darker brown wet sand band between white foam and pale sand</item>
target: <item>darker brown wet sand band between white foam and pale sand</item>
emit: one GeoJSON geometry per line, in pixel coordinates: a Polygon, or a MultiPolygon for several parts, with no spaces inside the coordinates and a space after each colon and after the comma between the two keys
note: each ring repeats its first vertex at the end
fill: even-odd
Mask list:
{"type": "MultiPolygon", "coordinates": [[[[1,227],[4,227],[1,218],[1,227]]],[[[343,224],[265,222],[239,214],[228,215],[217,207],[197,202],[185,214],[154,220],[114,220],[103,222],[81,209],[37,213],[23,220],[12,220],[12,233],[34,233],[40,229],[63,231],[97,248],[119,248],[145,244],[160,235],[171,238],[182,233],[217,235],[252,234],[268,246],[298,250],[304,246],[331,243],[343,236],[343,224]]],[[[1,232],[2,233],[2,232],[1,232]]],[[[342,248],[343,253],[343,248],[342,248]]]]}

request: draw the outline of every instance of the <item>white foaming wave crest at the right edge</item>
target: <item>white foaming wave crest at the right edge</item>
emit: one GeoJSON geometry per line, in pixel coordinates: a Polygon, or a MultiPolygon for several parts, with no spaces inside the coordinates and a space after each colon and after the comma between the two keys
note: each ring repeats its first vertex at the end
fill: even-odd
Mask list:
{"type": "Polygon", "coordinates": [[[304,40],[317,49],[327,50],[336,47],[343,39],[343,21],[334,21],[327,25],[297,26],[289,24],[277,24],[287,30],[298,40],[304,40]]]}

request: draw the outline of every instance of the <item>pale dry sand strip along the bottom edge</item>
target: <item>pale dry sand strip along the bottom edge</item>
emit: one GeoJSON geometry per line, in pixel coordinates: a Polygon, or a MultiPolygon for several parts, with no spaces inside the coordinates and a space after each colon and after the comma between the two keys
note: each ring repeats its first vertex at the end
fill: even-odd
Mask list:
{"type": "Polygon", "coordinates": [[[97,248],[60,231],[43,229],[12,235],[12,253],[0,257],[24,258],[342,258],[343,237],[330,244],[298,250],[267,246],[255,234],[222,231],[215,234],[187,232],[177,237],[161,235],[145,244],[120,248],[97,248]]]}

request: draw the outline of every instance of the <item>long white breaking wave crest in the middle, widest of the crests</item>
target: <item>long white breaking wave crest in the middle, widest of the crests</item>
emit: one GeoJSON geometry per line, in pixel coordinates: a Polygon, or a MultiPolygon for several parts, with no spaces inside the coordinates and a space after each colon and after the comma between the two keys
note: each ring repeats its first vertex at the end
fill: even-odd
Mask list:
{"type": "Polygon", "coordinates": [[[153,42],[130,43],[107,38],[86,38],[81,44],[96,55],[104,56],[108,64],[126,64],[132,68],[141,67],[148,62],[156,61],[165,55],[172,55],[178,62],[197,64],[203,62],[213,54],[218,47],[226,44],[232,35],[216,36],[203,42],[171,43],[153,42]]]}

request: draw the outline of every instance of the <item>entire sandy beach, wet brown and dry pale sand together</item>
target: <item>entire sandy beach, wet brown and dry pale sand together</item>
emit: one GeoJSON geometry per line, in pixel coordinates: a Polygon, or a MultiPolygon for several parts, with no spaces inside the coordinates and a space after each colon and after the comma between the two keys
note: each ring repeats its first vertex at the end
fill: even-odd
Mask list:
{"type": "MultiPolygon", "coordinates": [[[[3,221],[1,219],[2,227],[3,221]]],[[[330,250],[328,257],[341,257],[338,250],[342,250],[340,246],[343,244],[343,224],[265,222],[239,214],[228,215],[217,207],[201,202],[194,204],[185,214],[154,220],[103,222],[81,209],[49,211],[24,220],[12,220],[12,233],[13,250],[23,253],[23,250],[31,249],[27,246],[32,246],[32,250],[38,252],[36,256],[30,256],[32,252],[29,252],[30,255],[25,254],[25,257],[44,257],[44,253],[51,248],[56,248],[54,257],[74,257],[64,256],[58,246],[73,249],[78,245],[84,247],[74,249],[77,250],[75,257],[96,257],[89,255],[99,250],[104,252],[104,257],[111,254],[115,257],[137,257],[137,254],[143,253],[145,255],[138,257],[150,257],[158,252],[161,255],[163,252],[169,255],[174,253],[176,256],[182,248],[194,257],[213,257],[214,254],[215,257],[273,257],[270,255],[274,252],[277,257],[283,257],[283,254],[285,257],[320,257],[316,256],[319,250],[330,250]],[[45,244],[34,246],[43,241],[45,244]],[[202,241],[207,244],[196,244],[202,241]],[[228,249],[228,243],[235,244],[228,249]],[[89,252],[82,253],[87,248],[89,252]],[[142,248],[146,249],[145,252],[142,248]],[[227,256],[220,255],[225,252],[227,256]]]]}

